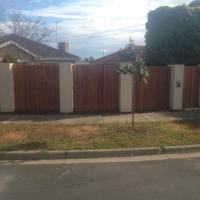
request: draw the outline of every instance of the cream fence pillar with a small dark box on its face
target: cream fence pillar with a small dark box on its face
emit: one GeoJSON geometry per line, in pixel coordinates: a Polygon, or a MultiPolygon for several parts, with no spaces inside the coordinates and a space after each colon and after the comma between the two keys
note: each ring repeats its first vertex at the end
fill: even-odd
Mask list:
{"type": "Polygon", "coordinates": [[[172,110],[183,109],[183,84],[184,84],[184,65],[171,65],[171,89],[170,89],[170,108],[172,110]],[[177,86],[177,83],[181,86],[177,86]]]}

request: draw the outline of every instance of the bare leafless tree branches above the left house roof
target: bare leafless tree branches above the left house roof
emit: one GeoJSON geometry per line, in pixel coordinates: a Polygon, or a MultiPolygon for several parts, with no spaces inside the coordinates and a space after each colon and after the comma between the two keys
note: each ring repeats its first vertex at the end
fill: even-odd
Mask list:
{"type": "Polygon", "coordinates": [[[21,12],[6,15],[6,22],[2,24],[4,27],[1,26],[0,29],[4,34],[14,33],[37,42],[46,41],[53,33],[53,30],[39,18],[33,19],[21,12]]]}

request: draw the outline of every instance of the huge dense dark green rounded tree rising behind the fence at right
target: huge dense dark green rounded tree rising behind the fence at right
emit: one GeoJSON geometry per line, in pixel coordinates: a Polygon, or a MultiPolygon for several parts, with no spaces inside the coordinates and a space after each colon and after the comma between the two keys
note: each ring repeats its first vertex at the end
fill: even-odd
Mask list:
{"type": "Polygon", "coordinates": [[[200,8],[160,7],[149,13],[146,28],[147,64],[200,63],[200,8]]]}

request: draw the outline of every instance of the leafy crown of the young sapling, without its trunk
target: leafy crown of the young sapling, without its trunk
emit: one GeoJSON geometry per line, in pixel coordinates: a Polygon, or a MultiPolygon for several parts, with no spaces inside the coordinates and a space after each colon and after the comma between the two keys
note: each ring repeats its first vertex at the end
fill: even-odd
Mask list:
{"type": "Polygon", "coordinates": [[[140,49],[135,48],[133,40],[130,40],[124,51],[122,51],[121,56],[128,63],[117,68],[117,72],[125,75],[130,74],[137,77],[140,81],[147,83],[148,70],[145,66],[142,52],[140,49]]]}

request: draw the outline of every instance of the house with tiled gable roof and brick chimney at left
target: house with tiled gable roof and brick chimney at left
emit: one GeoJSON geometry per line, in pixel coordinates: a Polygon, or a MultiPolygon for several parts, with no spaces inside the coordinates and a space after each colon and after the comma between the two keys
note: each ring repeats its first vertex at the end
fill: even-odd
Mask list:
{"type": "Polygon", "coordinates": [[[11,55],[18,62],[50,61],[77,62],[80,57],[70,54],[67,42],[60,42],[58,49],[35,42],[15,34],[0,37],[0,61],[5,55],[11,55]]]}

